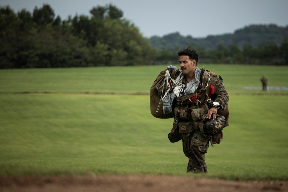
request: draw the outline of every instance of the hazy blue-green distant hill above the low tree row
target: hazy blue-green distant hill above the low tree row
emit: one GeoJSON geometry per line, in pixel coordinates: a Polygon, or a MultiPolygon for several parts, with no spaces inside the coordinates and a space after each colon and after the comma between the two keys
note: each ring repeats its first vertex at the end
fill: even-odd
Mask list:
{"type": "Polygon", "coordinates": [[[257,47],[259,44],[274,42],[280,45],[285,35],[288,36],[288,25],[286,27],[277,26],[276,24],[253,24],[236,30],[234,33],[223,35],[209,35],[205,38],[193,38],[192,36],[183,36],[179,32],[170,33],[163,37],[152,36],[149,41],[153,47],[161,50],[162,47],[169,50],[178,50],[183,47],[191,46],[192,48],[205,47],[206,50],[215,50],[219,44],[229,47],[235,43],[239,48],[244,44],[250,44],[257,47]]]}

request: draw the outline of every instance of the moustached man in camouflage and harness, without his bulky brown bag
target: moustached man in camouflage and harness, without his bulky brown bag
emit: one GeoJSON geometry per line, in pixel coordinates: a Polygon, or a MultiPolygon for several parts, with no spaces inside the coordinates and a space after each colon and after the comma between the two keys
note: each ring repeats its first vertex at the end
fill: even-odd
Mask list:
{"type": "Polygon", "coordinates": [[[161,87],[166,78],[157,86],[158,95],[164,95],[162,113],[174,116],[168,138],[170,142],[182,140],[183,152],[188,157],[187,173],[207,172],[205,153],[209,142],[212,146],[219,144],[223,128],[229,126],[229,96],[220,75],[197,67],[196,50],[188,47],[178,52],[178,56],[181,72],[175,66],[168,66],[169,73],[176,70],[178,75],[168,81],[167,91],[161,87]]]}

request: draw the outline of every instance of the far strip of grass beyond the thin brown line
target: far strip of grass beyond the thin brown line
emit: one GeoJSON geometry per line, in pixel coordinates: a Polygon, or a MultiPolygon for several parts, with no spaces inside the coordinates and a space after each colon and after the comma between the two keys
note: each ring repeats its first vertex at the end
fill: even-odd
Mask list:
{"type": "MultiPolygon", "coordinates": [[[[165,67],[155,65],[2,69],[0,70],[0,92],[149,93],[156,76],[165,67]]],[[[203,64],[198,64],[198,67],[201,69],[203,64]]],[[[230,95],[262,94],[262,90],[243,90],[243,87],[261,87],[262,75],[268,78],[269,86],[288,86],[287,66],[204,64],[204,67],[223,77],[223,83],[230,95]]],[[[269,91],[269,94],[278,93],[279,91],[269,91]]]]}

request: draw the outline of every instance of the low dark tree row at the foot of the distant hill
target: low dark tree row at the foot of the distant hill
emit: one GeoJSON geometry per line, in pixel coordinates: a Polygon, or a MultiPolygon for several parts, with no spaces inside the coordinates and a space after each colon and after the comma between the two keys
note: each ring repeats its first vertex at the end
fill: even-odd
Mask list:
{"type": "MultiPolygon", "coordinates": [[[[228,47],[219,44],[215,50],[207,50],[201,46],[194,48],[200,54],[199,63],[288,65],[288,37],[285,37],[280,45],[274,42],[261,43],[257,47],[244,44],[241,49],[235,43],[231,43],[228,47]]],[[[177,63],[176,50],[179,50],[178,47],[168,49],[163,46],[156,63],[177,63]]]]}

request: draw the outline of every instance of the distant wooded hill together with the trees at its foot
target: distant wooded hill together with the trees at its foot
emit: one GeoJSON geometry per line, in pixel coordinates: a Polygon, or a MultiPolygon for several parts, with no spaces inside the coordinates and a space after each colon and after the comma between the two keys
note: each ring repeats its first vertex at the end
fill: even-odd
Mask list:
{"type": "Polygon", "coordinates": [[[150,43],[160,52],[158,62],[175,63],[177,50],[193,47],[201,63],[288,65],[288,26],[251,25],[234,34],[206,38],[183,37],[178,32],[153,36],[150,43]]]}

